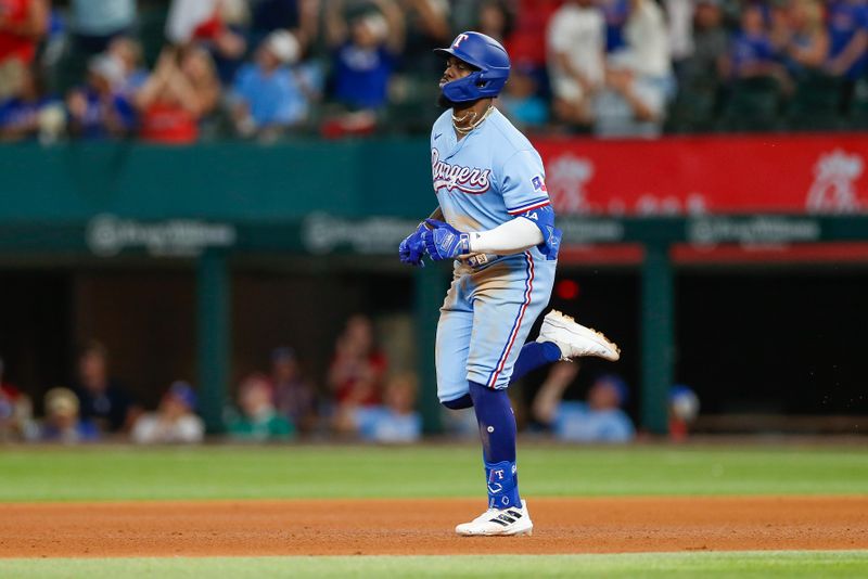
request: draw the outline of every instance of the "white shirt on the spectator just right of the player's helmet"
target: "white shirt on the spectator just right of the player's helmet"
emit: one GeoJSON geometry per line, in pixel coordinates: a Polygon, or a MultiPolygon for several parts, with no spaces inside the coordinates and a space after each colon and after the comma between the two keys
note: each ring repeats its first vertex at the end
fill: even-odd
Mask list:
{"type": "Polygon", "coordinates": [[[570,64],[593,85],[604,78],[605,21],[598,8],[567,3],[551,16],[547,31],[549,75],[556,97],[567,101],[580,100],[584,90],[563,70],[554,54],[565,54],[570,64]]]}

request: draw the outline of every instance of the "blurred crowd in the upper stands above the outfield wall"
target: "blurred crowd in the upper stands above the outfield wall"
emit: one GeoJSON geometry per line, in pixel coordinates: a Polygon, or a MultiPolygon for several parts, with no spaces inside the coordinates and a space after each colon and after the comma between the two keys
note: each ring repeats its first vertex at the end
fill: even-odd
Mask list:
{"type": "Polygon", "coordinates": [[[464,29],[528,131],[868,126],[865,0],[0,0],[0,140],[424,133],[464,29]]]}

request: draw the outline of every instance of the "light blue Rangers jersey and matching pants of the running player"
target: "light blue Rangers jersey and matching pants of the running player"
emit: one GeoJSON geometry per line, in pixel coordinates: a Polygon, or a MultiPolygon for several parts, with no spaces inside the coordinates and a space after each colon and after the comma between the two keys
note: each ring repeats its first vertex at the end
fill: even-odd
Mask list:
{"type": "MultiPolygon", "coordinates": [[[[542,159],[500,112],[460,141],[451,113],[431,131],[434,191],[450,226],[487,231],[550,205],[542,159]]],[[[509,385],[531,326],[548,305],[556,265],[538,247],[456,261],[437,325],[441,401],[468,394],[468,381],[509,385]]]]}

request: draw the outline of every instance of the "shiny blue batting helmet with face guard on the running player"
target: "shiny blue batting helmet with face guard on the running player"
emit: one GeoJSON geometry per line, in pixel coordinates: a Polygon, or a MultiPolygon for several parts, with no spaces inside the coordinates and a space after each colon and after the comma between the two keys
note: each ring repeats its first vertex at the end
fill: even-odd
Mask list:
{"type": "Polygon", "coordinates": [[[478,68],[443,86],[443,95],[455,103],[497,97],[509,78],[509,54],[490,36],[461,33],[452,40],[452,46],[435,49],[435,52],[455,56],[478,68]]]}

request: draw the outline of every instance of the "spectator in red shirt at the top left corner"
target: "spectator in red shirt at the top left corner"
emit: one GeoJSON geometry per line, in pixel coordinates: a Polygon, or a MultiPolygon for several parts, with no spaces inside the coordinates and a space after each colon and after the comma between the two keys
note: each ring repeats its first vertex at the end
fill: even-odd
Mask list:
{"type": "Polygon", "coordinates": [[[0,100],[21,90],[48,21],[48,0],[0,0],[0,100]]]}

